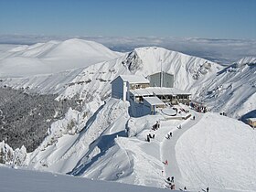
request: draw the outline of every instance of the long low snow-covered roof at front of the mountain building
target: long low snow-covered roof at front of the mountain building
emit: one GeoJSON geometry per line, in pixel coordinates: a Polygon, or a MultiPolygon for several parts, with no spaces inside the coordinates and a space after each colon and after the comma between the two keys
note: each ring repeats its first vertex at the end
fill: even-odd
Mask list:
{"type": "Polygon", "coordinates": [[[131,90],[134,96],[147,96],[147,95],[191,95],[187,91],[182,91],[176,88],[163,88],[163,87],[149,87],[144,89],[131,90]]]}

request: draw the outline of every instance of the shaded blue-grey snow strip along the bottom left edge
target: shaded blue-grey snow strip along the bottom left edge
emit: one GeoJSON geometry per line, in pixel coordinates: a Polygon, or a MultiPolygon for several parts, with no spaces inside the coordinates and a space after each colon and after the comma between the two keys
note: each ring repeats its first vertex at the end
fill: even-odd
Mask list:
{"type": "Polygon", "coordinates": [[[8,168],[0,165],[1,192],[160,192],[165,189],[95,181],[75,176],[8,168]]]}

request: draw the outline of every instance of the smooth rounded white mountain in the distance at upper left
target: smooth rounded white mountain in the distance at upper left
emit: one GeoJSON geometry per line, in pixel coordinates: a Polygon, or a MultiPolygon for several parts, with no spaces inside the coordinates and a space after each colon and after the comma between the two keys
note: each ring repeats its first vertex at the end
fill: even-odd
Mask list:
{"type": "Polygon", "coordinates": [[[12,48],[0,55],[0,77],[26,77],[87,67],[122,56],[96,42],[69,39],[12,48]]]}

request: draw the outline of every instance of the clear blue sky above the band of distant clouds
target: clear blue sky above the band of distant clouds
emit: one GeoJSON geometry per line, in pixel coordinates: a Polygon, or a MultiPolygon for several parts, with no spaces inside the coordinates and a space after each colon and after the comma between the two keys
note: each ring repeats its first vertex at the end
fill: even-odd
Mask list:
{"type": "Polygon", "coordinates": [[[0,0],[0,34],[256,39],[255,0],[0,0]]]}

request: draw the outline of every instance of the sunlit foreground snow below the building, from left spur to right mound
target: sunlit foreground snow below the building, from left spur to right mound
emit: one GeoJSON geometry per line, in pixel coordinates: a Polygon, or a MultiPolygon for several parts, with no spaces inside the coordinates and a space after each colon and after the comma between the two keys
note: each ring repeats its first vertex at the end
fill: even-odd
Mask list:
{"type": "Polygon", "coordinates": [[[250,126],[193,111],[195,120],[163,121],[161,115],[129,119],[127,107],[125,101],[107,101],[79,134],[57,126],[27,155],[27,166],[147,187],[168,187],[166,178],[175,176],[176,189],[256,191],[256,132],[250,126]],[[160,128],[152,130],[159,120],[160,128]],[[155,139],[148,143],[149,133],[155,139]],[[49,144],[54,135],[54,144],[49,144]]]}

